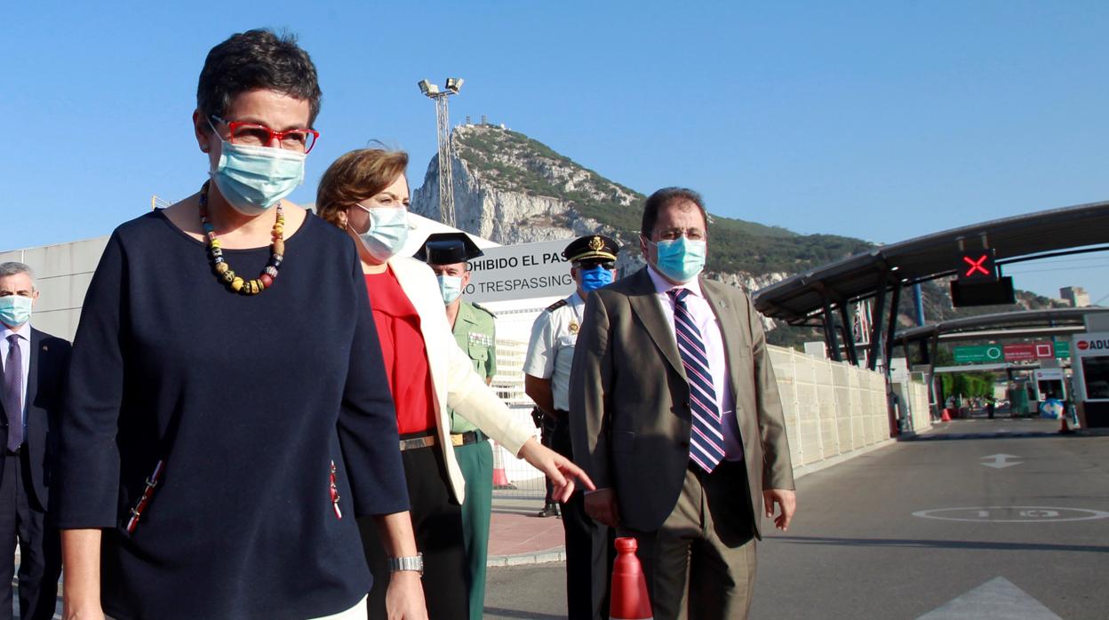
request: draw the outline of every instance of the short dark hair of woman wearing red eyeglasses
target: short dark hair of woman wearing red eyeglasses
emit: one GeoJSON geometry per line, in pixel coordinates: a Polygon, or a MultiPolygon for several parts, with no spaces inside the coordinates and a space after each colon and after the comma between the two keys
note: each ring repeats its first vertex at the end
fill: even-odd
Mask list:
{"type": "MultiPolygon", "coordinates": [[[[319,81],[308,52],[296,44],[296,35],[268,29],[232,34],[212,48],[196,85],[196,109],[205,118],[223,116],[240,94],[265,89],[308,102],[308,124],[319,114],[319,81]]],[[[205,126],[205,125],[202,125],[205,126]]]]}

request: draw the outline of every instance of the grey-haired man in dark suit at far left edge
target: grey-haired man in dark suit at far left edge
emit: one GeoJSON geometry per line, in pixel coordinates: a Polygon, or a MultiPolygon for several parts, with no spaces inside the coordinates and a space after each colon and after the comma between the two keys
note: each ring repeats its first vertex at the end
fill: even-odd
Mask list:
{"type": "MultiPolygon", "coordinates": [[[[19,606],[22,620],[53,618],[61,573],[61,541],[47,505],[58,445],[58,415],[70,344],[34,329],[39,297],[22,263],[0,264],[0,359],[3,384],[3,459],[0,460],[0,541],[14,553],[19,541],[19,606]]],[[[12,609],[12,560],[0,561],[0,614],[12,609]]]]}

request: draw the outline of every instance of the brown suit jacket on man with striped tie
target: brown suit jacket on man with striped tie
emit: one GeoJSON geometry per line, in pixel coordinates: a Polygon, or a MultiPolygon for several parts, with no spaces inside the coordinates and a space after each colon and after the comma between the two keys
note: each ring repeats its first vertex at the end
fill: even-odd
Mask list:
{"type": "MultiPolygon", "coordinates": [[[[700,284],[721,325],[757,536],[762,490],[793,488],[782,402],[751,299],[700,284]]],[[[615,490],[622,525],[644,531],[678,502],[690,450],[689,384],[654,295],[645,267],[590,294],[570,373],[574,461],[615,490]]]]}

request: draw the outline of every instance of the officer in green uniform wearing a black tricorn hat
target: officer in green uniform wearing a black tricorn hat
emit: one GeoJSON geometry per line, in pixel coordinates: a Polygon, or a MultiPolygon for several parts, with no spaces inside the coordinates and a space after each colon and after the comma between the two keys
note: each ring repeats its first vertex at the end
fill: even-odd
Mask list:
{"type": "MultiPolygon", "coordinates": [[[[466,233],[435,233],[428,235],[415,257],[426,262],[438,277],[455,339],[474,360],[474,369],[489,384],[497,374],[494,316],[481,306],[462,301],[462,291],[470,282],[467,262],[481,255],[481,250],[466,233]]],[[[455,411],[450,411],[450,439],[466,480],[462,542],[469,616],[476,620],[482,617],[485,609],[486,557],[492,510],[492,448],[484,433],[455,411]]]]}

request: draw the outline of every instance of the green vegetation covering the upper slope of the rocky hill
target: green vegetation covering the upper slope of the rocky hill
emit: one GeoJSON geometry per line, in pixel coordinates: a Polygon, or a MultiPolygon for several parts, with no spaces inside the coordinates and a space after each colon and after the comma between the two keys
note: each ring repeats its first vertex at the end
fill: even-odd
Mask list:
{"type": "MultiPolygon", "coordinates": [[[[502,190],[567,201],[582,216],[620,231],[624,241],[637,238],[647,197],[643,194],[609,181],[522,133],[491,126],[469,129],[455,134],[456,151],[484,181],[502,190]],[[552,167],[579,171],[587,179],[576,181],[577,187],[569,190],[562,179],[543,174],[552,167]],[[633,200],[624,204],[628,195],[633,200]]],[[[720,215],[712,215],[709,234],[713,243],[708,268],[723,273],[794,274],[872,246],[857,238],[798,235],[720,215]]]]}

